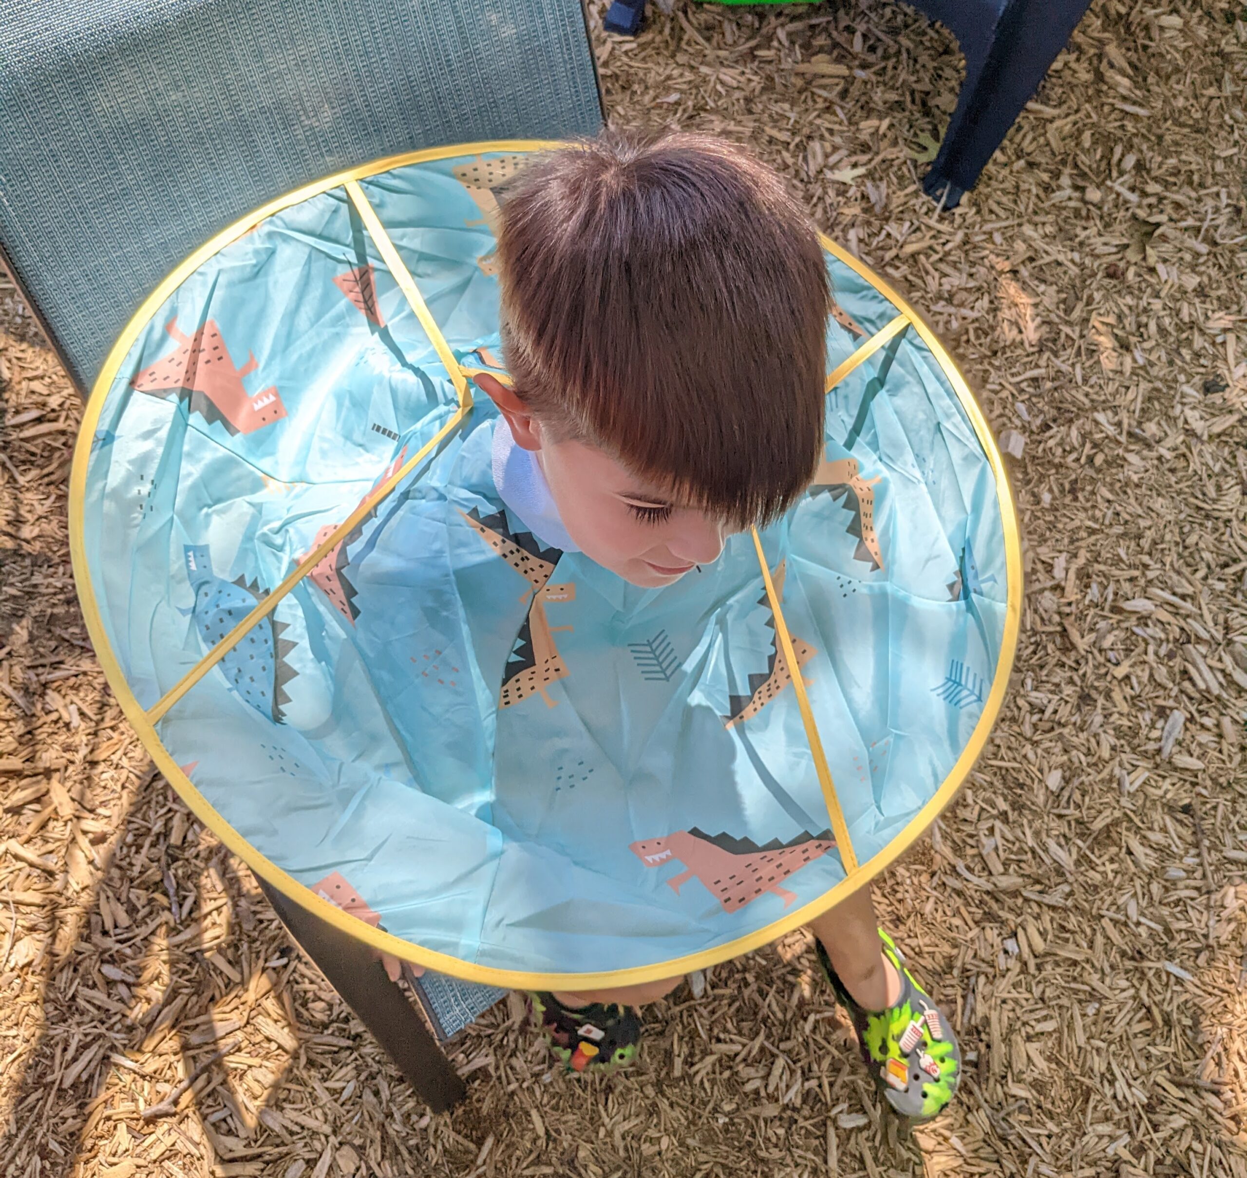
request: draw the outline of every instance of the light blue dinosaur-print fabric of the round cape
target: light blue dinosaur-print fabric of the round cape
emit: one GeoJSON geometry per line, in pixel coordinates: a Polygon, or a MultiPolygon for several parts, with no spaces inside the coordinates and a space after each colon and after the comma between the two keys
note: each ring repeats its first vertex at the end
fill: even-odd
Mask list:
{"type": "MultiPolygon", "coordinates": [[[[522,160],[360,178],[466,369],[505,370],[522,160]]],[[[77,568],[138,708],[222,654],[155,733],[238,846],[464,976],[713,952],[845,879],[794,674],[863,878],[917,836],[990,723],[1020,591],[990,443],[917,329],[828,393],[817,476],[759,537],[777,617],[749,534],[661,590],[535,537],[484,395],[428,449],[455,381],[342,187],[246,229],[106,369],[77,568]]],[[[898,307],[827,264],[831,371],[898,307]]]]}

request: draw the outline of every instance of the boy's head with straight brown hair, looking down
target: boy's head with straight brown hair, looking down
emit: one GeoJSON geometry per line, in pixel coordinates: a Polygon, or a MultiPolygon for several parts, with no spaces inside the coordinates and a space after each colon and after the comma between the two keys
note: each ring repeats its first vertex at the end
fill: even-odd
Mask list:
{"type": "Polygon", "coordinates": [[[550,152],[508,187],[498,263],[514,390],[480,383],[592,560],[667,585],[806,489],[829,288],[766,165],[692,133],[550,152]]]}

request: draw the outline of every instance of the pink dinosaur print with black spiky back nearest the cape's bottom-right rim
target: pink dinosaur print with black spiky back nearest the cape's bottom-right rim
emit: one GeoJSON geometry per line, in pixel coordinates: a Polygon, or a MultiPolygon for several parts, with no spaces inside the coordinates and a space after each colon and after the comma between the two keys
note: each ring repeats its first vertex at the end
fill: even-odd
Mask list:
{"type": "Polygon", "coordinates": [[[791,843],[772,839],[766,846],[758,846],[749,839],[733,839],[727,834],[712,838],[693,826],[661,839],[642,839],[630,849],[647,868],[678,859],[685,870],[667,880],[676,893],[688,880],[700,879],[723,905],[723,911],[734,912],[766,891],[779,896],[787,907],[797,896],[781,888],[781,881],[833,846],[835,841],[829,830],[819,835],[802,831],[791,843]]]}

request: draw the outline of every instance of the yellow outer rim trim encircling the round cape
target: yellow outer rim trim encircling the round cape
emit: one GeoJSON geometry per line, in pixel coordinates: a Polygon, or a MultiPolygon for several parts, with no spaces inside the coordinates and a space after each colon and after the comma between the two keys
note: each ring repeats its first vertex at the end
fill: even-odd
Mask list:
{"type": "Polygon", "coordinates": [[[778,920],[756,929],[752,932],[739,936],[736,940],[726,941],[713,949],[687,954],[683,957],[672,957],[668,961],[660,961],[652,965],[631,966],[625,970],[607,970],[596,974],[542,974],[527,970],[499,970],[490,966],[478,965],[474,961],[463,961],[448,954],[421,949],[410,941],[404,941],[390,932],[373,929],[357,916],[350,916],[318,896],[306,884],[301,884],[293,875],[284,871],[276,863],[262,855],[252,846],[237,830],[231,826],[224,818],[213,808],[207,798],[195,787],[191,779],[178,768],[160,739],[156,729],[143,713],[142,704],[135,698],[126,681],[121,664],[113,653],[108,641],[108,633],[100,615],[99,602],[95,597],[95,586],[91,583],[91,572],[86,560],[86,540],[84,535],[84,507],[86,502],[86,475],[91,457],[91,441],[100,421],[105,398],[108,389],[121,370],[131,347],[138,338],[140,332],[147,325],[152,315],[161,308],[166,299],[208,258],[218,253],[231,242],[237,241],[248,229],[261,221],[292,204],[298,204],[309,197],[327,192],[329,188],[342,187],[348,180],[363,180],[387,172],[392,168],[404,167],[410,163],[423,163],[429,160],[448,160],[455,156],[479,155],[491,151],[540,151],[542,148],[557,147],[560,145],[550,141],[534,140],[500,140],[485,143],[456,143],[448,147],[434,147],[425,151],[405,152],[398,156],[389,156],[372,163],[350,168],[327,176],[324,180],[306,184],[294,192],[278,197],[268,204],[256,209],[241,221],[223,229],[203,246],[195,251],[182,262],[142,303],[133,318],[126,324],[117,342],[112,345],[100,375],[92,388],[91,399],[82,415],[82,425],[79,430],[77,444],[74,450],[74,467],[70,474],[70,555],[74,561],[74,580],[77,583],[79,601],[82,603],[82,615],[86,621],[91,642],[95,646],[96,657],[108,679],[108,684],[121,704],[121,709],[130,722],[131,728],[140,740],[151,753],[156,768],[165,775],[165,779],[177,790],[182,800],[190,807],[196,818],[200,819],[221,841],[242,859],[261,879],[272,884],[281,893],[293,900],[299,907],[307,909],[320,920],[333,927],[353,936],[355,940],[369,945],[380,952],[389,952],[397,957],[414,961],[430,970],[438,970],[465,981],[481,982],[490,986],[506,986],[511,989],[526,990],[597,990],[606,986],[643,985],[645,982],[658,981],[661,979],[676,977],[691,970],[706,969],[720,961],[738,957],[741,954],[761,949],[777,937],[809,924],[816,916],[833,909],[842,900],[850,896],[868,880],[883,871],[889,864],[903,855],[919,838],[925,834],[927,828],[935,820],[940,810],[951,800],[958,787],[965,780],[966,774],[978,760],[988,742],[991,725],[1000,712],[1005,691],[1009,683],[1009,674],[1013,671],[1014,654],[1018,646],[1018,631],[1021,623],[1023,602],[1023,577],[1021,577],[1021,539],[1018,531],[1018,517],[1014,512],[1013,497],[1009,491],[1009,481],[1005,475],[1004,462],[1000,451],[996,449],[991,431],[975,404],[965,378],[961,375],[956,363],[948,350],[935,337],[929,327],[923,322],[909,303],[898,294],[889,283],[879,278],[870,269],[863,266],[857,258],[847,253],[829,238],[823,237],[823,248],[832,257],[843,262],[855,273],[869,282],[884,298],[889,299],[897,309],[904,314],[914,325],[923,343],[930,349],[936,363],[944,370],[953,386],[954,393],[961,403],[974,433],[988,456],[993,474],[996,479],[996,499],[1000,505],[1000,519],[1004,529],[1005,542],[1005,567],[1008,577],[1008,601],[1005,606],[1005,631],[1000,648],[1000,661],[996,664],[996,674],[988,693],[983,714],[975,725],[970,739],[966,742],[956,764],[949,772],[944,784],[935,795],[910,819],[909,824],[888,844],[888,846],[858,866],[858,870],[840,880],[834,888],[823,893],[817,900],[798,909],[784,912],[778,920]]]}

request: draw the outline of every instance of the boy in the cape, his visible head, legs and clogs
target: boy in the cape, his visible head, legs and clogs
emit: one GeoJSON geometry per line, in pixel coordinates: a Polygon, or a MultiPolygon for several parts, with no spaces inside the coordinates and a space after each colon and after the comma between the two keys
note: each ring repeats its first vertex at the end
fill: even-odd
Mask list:
{"type": "MultiPolygon", "coordinates": [[[[541,545],[662,591],[798,502],[824,454],[833,303],[818,234],[769,168],[707,136],[607,132],[513,182],[496,264],[510,383],[476,383],[500,414],[498,497],[541,545]]],[[[938,1113],[956,1041],[869,886],[808,927],[888,1102],[938,1113]]],[[[532,1003],[562,1058],[594,1068],[631,1057],[633,1007],[678,981],[532,1003]]]]}

